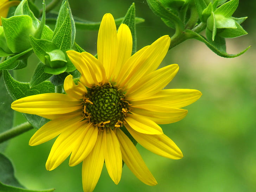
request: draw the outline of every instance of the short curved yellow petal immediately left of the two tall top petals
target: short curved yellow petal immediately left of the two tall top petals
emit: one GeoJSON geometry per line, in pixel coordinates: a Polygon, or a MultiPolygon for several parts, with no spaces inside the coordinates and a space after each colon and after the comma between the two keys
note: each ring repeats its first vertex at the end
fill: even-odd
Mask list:
{"type": "Polygon", "coordinates": [[[95,83],[102,85],[106,82],[106,73],[102,63],[88,52],[82,52],[82,57],[87,61],[87,66],[91,71],[91,76],[95,83]]]}

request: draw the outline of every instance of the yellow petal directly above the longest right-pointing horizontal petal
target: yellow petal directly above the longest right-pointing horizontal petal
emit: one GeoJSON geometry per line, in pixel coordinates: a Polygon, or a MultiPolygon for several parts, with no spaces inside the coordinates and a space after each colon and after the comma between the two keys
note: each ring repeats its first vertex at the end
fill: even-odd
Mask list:
{"type": "Polygon", "coordinates": [[[140,82],[127,90],[128,98],[143,98],[156,94],[163,89],[179,70],[177,64],[158,69],[140,79],[140,82]]]}

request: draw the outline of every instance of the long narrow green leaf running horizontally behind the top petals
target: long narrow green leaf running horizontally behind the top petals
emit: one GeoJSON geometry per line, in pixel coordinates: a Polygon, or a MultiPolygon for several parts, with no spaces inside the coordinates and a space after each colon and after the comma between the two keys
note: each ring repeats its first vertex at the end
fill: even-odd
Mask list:
{"type": "MultiPolygon", "coordinates": [[[[55,13],[47,13],[47,18],[46,18],[46,23],[47,24],[55,24],[56,23],[56,17],[57,14],[55,13]]],[[[119,26],[122,21],[123,21],[124,17],[115,19],[115,23],[117,26],[119,26]]],[[[97,31],[100,28],[101,22],[93,22],[93,21],[87,21],[84,19],[80,19],[77,17],[74,17],[74,21],[75,21],[75,26],[78,29],[83,29],[83,30],[89,30],[89,31],[97,31]]],[[[135,24],[140,24],[143,23],[145,21],[145,19],[140,18],[140,17],[135,17],[135,24]]]]}

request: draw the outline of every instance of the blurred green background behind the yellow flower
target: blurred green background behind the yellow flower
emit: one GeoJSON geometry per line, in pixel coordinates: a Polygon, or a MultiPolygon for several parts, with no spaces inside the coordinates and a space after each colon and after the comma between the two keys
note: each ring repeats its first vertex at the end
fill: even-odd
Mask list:
{"type": "MultiPolygon", "coordinates": [[[[41,1],[36,2],[41,6],[41,1]]],[[[146,0],[74,0],[70,1],[70,6],[74,16],[100,21],[108,12],[114,18],[123,17],[132,2],[135,2],[136,16],[145,19],[145,23],[136,28],[137,49],[151,44],[162,35],[173,34],[151,12],[146,0]]],[[[161,126],[183,151],[184,158],[166,159],[137,145],[158,185],[141,183],[124,165],[118,185],[113,183],[103,167],[95,191],[256,191],[255,8],[254,1],[239,2],[234,16],[249,17],[243,23],[249,34],[227,40],[228,53],[238,53],[252,45],[244,55],[222,58],[205,44],[188,40],[170,50],[161,64],[177,63],[180,66],[168,88],[198,89],[203,93],[196,103],[185,107],[188,109],[185,119],[161,126]]],[[[96,54],[97,31],[77,29],[76,42],[86,51],[96,54]]],[[[37,58],[31,57],[28,68],[18,70],[16,78],[30,81],[37,63],[37,58]]],[[[25,121],[21,114],[15,115],[15,124],[25,121]]],[[[29,189],[82,191],[82,165],[69,167],[66,160],[55,170],[46,171],[45,162],[54,141],[30,147],[28,141],[34,132],[35,129],[11,139],[6,149],[5,154],[12,160],[18,180],[29,189]]]]}

